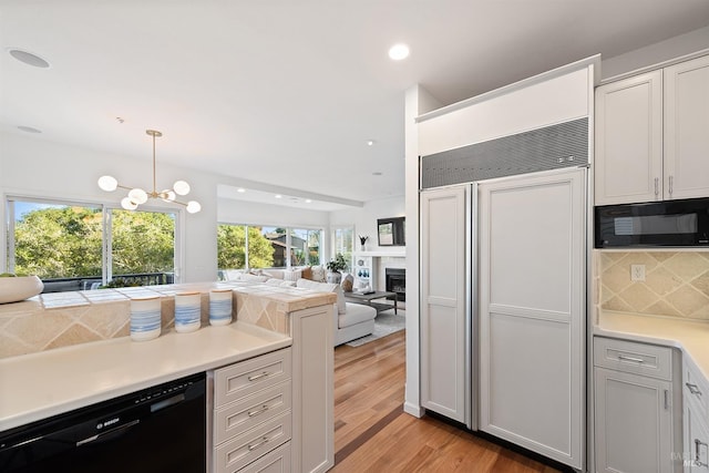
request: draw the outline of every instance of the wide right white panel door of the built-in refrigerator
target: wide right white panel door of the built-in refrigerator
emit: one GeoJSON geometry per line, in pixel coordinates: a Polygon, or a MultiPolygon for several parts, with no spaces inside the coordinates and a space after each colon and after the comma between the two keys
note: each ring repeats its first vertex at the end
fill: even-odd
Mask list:
{"type": "Polygon", "coordinates": [[[481,182],[480,429],[582,469],[586,169],[481,182]]]}

